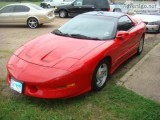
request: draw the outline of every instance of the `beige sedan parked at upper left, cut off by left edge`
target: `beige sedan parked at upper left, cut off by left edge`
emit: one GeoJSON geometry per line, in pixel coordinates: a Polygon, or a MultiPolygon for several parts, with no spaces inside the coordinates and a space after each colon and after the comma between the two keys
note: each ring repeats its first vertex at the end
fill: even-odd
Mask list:
{"type": "Polygon", "coordinates": [[[37,28],[44,23],[53,21],[53,10],[45,10],[31,3],[10,4],[0,9],[0,24],[26,24],[37,28]]]}

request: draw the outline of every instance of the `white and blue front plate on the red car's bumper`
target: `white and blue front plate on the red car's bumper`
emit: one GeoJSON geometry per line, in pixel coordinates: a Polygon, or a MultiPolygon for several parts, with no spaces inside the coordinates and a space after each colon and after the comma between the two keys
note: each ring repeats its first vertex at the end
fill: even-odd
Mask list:
{"type": "Polygon", "coordinates": [[[23,83],[15,81],[13,78],[11,78],[10,88],[19,92],[19,93],[22,93],[23,83]]]}

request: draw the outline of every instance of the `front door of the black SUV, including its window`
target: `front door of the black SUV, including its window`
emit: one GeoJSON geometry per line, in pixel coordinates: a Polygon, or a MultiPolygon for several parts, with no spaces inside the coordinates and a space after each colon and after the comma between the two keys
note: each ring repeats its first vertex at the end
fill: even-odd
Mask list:
{"type": "Polygon", "coordinates": [[[85,12],[93,11],[94,5],[91,3],[88,3],[89,0],[76,0],[72,7],[69,9],[69,12],[72,15],[78,15],[85,12]]]}

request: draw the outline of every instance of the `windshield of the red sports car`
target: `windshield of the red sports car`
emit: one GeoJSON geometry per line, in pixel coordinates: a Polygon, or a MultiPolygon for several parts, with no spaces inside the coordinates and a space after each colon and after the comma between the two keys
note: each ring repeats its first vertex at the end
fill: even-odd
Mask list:
{"type": "Polygon", "coordinates": [[[115,36],[116,18],[81,15],[71,19],[55,34],[81,39],[112,39],[115,36]]]}

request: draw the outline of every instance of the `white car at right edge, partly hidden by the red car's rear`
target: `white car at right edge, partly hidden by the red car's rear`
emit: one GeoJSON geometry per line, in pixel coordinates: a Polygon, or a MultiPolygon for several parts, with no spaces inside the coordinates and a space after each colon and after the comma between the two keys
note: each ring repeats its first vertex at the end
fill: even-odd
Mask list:
{"type": "Polygon", "coordinates": [[[136,14],[133,17],[141,19],[146,24],[146,32],[160,32],[160,15],[136,14]]]}

